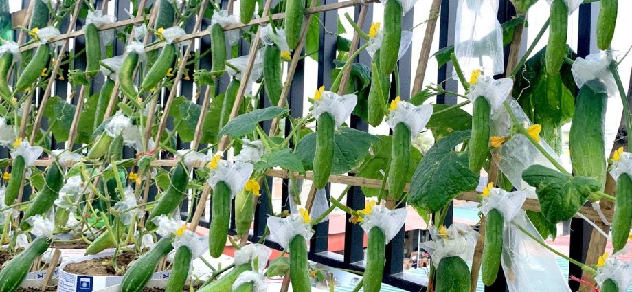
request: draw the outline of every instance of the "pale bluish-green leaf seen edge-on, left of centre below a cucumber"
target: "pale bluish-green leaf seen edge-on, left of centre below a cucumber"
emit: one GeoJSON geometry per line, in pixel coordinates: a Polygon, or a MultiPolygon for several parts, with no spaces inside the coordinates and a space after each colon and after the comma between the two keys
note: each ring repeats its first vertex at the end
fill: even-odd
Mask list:
{"type": "Polygon", "coordinates": [[[233,138],[238,138],[251,134],[259,122],[272,120],[284,113],[285,109],[279,106],[269,106],[265,109],[256,109],[250,113],[238,115],[219,131],[219,135],[231,135],[233,138]]]}

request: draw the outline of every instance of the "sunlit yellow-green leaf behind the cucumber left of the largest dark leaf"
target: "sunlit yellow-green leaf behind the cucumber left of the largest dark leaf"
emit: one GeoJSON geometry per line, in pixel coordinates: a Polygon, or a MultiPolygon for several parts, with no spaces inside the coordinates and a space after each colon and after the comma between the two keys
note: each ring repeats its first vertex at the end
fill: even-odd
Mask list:
{"type": "MultiPolygon", "coordinates": [[[[378,136],[379,141],[372,145],[372,153],[368,153],[365,158],[365,164],[358,172],[358,177],[366,177],[369,179],[384,179],[383,172],[386,171],[388,161],[391,157],[392,136],[378,136]]],[[[421,161],[421,153],[417,148],[410,148],[410,164],[406,175],[406,181],[409,182],[419,161],[421,161]]],[[[364,196],[378,196],[380,190],[374,188],[362,188],[364,196]]]]}

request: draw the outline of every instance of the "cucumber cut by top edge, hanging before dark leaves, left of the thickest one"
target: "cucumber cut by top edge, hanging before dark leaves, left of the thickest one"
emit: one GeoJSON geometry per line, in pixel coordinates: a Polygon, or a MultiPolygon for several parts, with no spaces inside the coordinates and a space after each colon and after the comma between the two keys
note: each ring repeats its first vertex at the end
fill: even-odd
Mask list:
{"type": "Polygon", "coordinates": [[[563,0],[551,3],[549,40],[546,45],[545,67],[550,75],[560,73],[566,56],[566,35],[568,31],[568,7],[563,0]]]}

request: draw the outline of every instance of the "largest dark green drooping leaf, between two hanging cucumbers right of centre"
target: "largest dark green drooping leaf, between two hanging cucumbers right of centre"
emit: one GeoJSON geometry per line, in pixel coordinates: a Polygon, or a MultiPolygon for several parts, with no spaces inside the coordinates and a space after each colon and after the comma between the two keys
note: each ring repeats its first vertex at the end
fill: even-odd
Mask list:
{"type": "Polygon", "coordinates": [[[409,192],[409,203],[419,214],[438,212],[462,192],[478,186],[479,174],[470,171],[467,153],[453,150],[470,135],[470,131],[454,132],[440,139],[424,155],[409,192]]]}

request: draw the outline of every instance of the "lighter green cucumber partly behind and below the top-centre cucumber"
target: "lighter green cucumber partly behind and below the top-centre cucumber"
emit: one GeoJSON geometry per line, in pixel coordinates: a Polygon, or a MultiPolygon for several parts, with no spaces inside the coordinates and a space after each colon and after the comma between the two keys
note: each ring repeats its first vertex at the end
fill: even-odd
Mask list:
{"type": "Polygon", "coordinates": [[[384,109],[382,104],[388,101],[390,80],[388,74],[380,71],[380,50],[373,54],[373,63],[377,70],[371,70],[371,87],[367,101],[368,122],[371,126],[379,126],[384,120],[384,109]],[[378,88],[380,87],[380,88],[378,88]],[[380,91],[381,90],[381,91],[380,91]]]}

